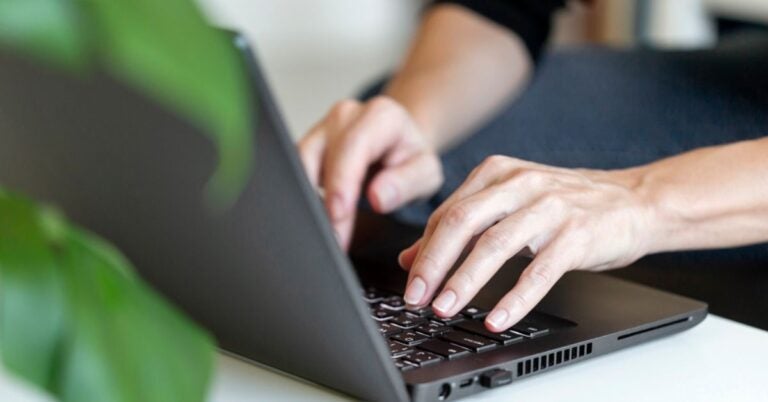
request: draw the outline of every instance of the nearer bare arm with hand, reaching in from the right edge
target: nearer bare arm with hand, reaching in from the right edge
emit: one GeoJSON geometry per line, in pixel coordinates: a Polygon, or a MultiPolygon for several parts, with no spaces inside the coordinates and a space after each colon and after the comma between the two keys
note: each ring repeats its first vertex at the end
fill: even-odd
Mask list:
{"type": "Polygon", "coordinates": [[[703,148],[632,169],[560,169],[495,156],[470,174],[403,251],[406,301],[463,308],[502,264],[535,254],[489,314],[493,331],[524,317],[569,270],[625,266],[656,252],[768,241],[768,138],[703,148]],[[419,283],[421,282],[421,283],[419,283]]]}

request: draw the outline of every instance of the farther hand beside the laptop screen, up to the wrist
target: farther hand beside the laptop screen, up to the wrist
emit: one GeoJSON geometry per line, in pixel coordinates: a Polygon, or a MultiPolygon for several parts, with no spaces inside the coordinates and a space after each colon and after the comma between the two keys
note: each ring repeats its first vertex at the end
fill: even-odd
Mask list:
{"type": "Polygon", "coordinates": [[[325,206],[346,250],[357,203],[369,168],[366,196],[374,211],[388,213],[443,184],[440,158],[408,111],[392,98],[337,103],[299,142],[310,181],[325,194],[325,206]]]}

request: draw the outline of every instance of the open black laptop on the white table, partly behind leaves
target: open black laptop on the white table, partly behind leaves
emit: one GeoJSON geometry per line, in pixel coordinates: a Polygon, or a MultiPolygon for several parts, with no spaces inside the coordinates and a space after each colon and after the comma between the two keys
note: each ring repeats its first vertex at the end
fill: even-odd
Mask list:
{"type": "Polygon", "coordinates": [[[253,172],[231,208],[206,206],[216,152],[198,128],[107,76],[82,82],[9,55],[0,55],[0,183],[116,244],[228,353],[364,400],[513,387],[705,318],[704,303],[572,272],[512,330],[490,333],[483,316],[523,258],[456,317],[406,310],[394,256],[353,264],[338,247],[262,70],[242,39],[233,45],[259,102],[253,172]]]}

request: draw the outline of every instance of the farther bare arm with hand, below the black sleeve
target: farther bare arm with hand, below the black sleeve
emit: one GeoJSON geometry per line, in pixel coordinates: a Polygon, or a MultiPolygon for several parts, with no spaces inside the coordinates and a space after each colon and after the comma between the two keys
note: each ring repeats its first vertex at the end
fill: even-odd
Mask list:
{"type": "Polygon", "coordinates": [[[431,8],[385,96],[339,102],[299,143],[310,180],[325,190],[342,246],[349,243],[361,192],[386,213],[437,191],[438,150],[516,93],[531,64],[510,31],[459,6],[431,8]],[[374,165],[381,170],[363,189],[374,165]]]}

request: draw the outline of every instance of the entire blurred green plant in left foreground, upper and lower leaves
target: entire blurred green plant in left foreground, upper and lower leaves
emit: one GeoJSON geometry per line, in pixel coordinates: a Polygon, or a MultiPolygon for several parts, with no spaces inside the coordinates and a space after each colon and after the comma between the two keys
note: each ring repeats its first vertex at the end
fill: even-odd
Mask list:
{"type": "MultiPolygon", "coordinates": [[[[2,47],[83,77],[105,70],[199,125],[219,151],[206,194],[219,208],[238,197],[252,163],[247,77],[193,0],[0,0],[2,47]]],[[[62,401],[200,401],[213,353],[114,248],[0,188],[11,373],[62,401]]]]}

